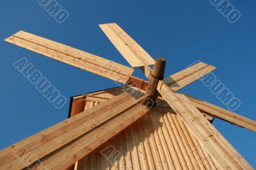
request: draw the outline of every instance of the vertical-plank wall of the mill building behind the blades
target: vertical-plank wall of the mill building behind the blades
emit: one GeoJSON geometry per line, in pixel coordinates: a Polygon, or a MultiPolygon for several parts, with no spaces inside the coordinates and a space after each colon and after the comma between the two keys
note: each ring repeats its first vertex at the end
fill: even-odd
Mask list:
{"type": "MultiPolygon", "coordinates": [[[[124,88],[118,87],[72,97],[69,116],[123,92],[124,88]]],[[[157,99],[157,108],[83,157],[77,162],[77,167],[219,169],[179,116],[161,98],[157,99]]]]}

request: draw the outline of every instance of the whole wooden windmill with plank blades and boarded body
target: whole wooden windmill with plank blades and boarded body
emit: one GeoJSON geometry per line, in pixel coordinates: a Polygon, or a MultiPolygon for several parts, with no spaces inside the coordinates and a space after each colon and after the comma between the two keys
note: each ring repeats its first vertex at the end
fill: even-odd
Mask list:
{"type": "Polygon", "coordinates": [[[0,151],[0,169],[253,169],[211,124],[256,132],[255,121],[175,93],[215,69],[196,63],[163,79],[156,61],[117,24],[100,28],[133,68],[24,31],[6,42],[125,86],[73,97],[70,118],[0,151]],[[152,69],[149,65],[154,65],[152,69]]]}

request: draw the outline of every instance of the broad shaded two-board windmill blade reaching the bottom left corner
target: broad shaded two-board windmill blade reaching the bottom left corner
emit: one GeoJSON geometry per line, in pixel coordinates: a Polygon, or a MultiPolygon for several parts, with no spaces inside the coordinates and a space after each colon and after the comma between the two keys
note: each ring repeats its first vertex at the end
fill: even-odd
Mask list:
{"type": "Polygon", "coordinates": [[[65,169],[146,114],[146,98],[123,93],[13,144],[0,151],[0,169],[65,169]]]}

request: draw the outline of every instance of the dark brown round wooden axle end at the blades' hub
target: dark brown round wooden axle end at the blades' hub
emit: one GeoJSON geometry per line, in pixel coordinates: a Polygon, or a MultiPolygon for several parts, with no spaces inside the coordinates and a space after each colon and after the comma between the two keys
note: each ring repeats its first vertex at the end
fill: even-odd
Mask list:
{"type": "Polygon", "coordinates": [[[165,63],[166,61],[164,58],[157,58],[154,68],[149,75],[149,82],[146,94],[150,95],[150,98],[153,100],[154,103],[156,102],[156,98],[159,95],[157,91],[158,81],[162,80],[164,77],[165,63]]]}

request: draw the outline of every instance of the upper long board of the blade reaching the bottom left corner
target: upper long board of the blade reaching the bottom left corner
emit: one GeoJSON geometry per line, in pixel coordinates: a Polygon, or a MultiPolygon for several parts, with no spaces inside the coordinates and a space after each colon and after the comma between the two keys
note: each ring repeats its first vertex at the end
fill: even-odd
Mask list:
{"type": "Polygon", "coordinates": [[[58,123],[57,125],[48,128],[45,130],[46,133],[43,133],[44,135],[42,135],[42,137],[40,137],[42,134],[40,133],[40,135],[38,135],[39,139],[25,139],[26,145],[23,141],[15,144],[15,146],[18,146],[16,150],[14,150],[16,157],[12,154],[14,147],[2,150],[0,152],[2,155],[0,158],[0,167],[8,168],[15,165],[17,168],[24,168],[24,164],[19,160],[19,157],[24,155],[22,150],[19,151],[20,146],[26,147],[28,152],[33,152],[33,155],[36,158],[45,157],[52,151],[70,143],[72,140],[83,135],[89,130],[98,127],[100,124],[110,118],[113,118],[113,116],[116,116],[116,114],[119,114],[134,104],[136,104],[136,100],[134,100],[130,95],[124,93],[93,107],[89,111],[77,114],[76,116],[66,120],[65,123],[58,123]],[[17,155],[19,155],[19,157],[17,157],[17,155]]]}

